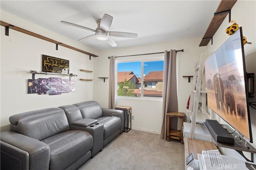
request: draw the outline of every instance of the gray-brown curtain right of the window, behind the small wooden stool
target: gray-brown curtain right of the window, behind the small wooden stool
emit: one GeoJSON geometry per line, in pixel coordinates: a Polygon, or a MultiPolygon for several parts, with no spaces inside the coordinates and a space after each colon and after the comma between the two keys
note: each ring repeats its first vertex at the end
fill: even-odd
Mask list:
{"type": "MultiPolygon", "coordinates": [[[[176,80],[176,50],[164,51],[164,84],[161,139],[166,140],[166,113],[178,111],[177,80],[176,80]]],[[[172,127],[177,127],[177,119],[172,121],[172,127]]]]}

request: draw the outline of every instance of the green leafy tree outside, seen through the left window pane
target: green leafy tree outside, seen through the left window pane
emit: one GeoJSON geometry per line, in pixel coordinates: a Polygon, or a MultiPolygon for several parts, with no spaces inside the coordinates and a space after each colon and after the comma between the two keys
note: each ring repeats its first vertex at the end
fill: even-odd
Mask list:
{"type": "Polygon", "coordinates": [[[134,97],[135,87],[136,86],[131,81],[125,79],[124,82],[118,84],[117,95],[134,97]]]}

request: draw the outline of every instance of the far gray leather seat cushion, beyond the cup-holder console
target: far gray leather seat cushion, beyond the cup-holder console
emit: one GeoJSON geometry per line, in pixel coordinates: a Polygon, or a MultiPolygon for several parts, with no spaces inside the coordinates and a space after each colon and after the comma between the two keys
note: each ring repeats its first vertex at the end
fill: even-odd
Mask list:
{"type": "Polygon", "coordinates": [[[121,119],[117,116],[104,116],[96,119],[104,124],[104,140],[113,135],[121,127],[121,119]]]}

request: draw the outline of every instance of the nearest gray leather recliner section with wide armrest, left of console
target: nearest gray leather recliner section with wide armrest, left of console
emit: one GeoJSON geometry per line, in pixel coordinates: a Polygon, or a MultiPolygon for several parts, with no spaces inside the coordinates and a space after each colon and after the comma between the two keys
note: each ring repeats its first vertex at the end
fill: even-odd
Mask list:
{"type": "Polygon", "coordinates": [[[63,109],[29,111],[9,120],[11,131],[1,132],[1,169],[77,169],[91,157],[92,135],[70,130],[63,109]]]}

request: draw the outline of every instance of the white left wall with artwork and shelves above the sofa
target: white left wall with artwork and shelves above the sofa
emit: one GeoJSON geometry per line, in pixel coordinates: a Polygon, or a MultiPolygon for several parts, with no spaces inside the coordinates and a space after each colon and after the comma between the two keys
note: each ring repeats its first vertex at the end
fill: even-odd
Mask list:
{"type": "MultiPolygon", "coordinates": [[[[97,51],[86,47],[76,41],[72,41],[34,25],[28,21],[17,18],[4,11],[1,11],[1,21],[10,23],[17,27],[38,33],[50,39],[60,41],[78,49],[88,51],[97,55],[97,51]]],[[[9,130],[9,117],[11,115],[26,111],[58,107],[77,102],[84,102],[93,99],[93,81],[80,81],[79,78],[93,78],[94,73],[80,72],[79,69],[94,70],[94,57],[56,45],[12,29],[9,36],[5,35],[5,27],[0,27],[1,36],[1,131],[9,130]],[[29,70],[42,70],[42,54],[52,57],[67,59],[70,62],[70,73],[78,74],[72,77],[76,81],[76,91],[61,95],[49,96],[38,94],[27,94],[28,79],[32,78],[29,70]]],[[[35,78],[61,77],[68,79],[68,76],[36,74],[35,78]]]]}

